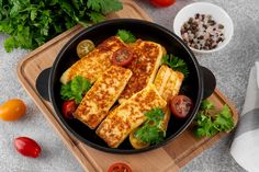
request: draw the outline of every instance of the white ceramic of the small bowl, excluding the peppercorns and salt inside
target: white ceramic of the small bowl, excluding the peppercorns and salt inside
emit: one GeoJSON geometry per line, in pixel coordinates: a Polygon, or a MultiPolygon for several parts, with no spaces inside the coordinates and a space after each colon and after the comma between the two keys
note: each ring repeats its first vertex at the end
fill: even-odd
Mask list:
{"type": "Polygon", "coordinates": [[[217,22],[224,25],[224,42],[214,49],[210,50],[199,50],[190,47],[194,53],[213,53],[224,48],[232,39],[234,33],[234,25],[230,16],[226,13],[225,10],[218,5],[209,3],[209,2],[194,2],[183,9],[181,9],[174,18],[173,21],[173,32],[182,38],[180,30],[183,23],[185,23],[190,18],[194,18],[196,13],[200,14],[211,14],[212,18],[217,22]]]}

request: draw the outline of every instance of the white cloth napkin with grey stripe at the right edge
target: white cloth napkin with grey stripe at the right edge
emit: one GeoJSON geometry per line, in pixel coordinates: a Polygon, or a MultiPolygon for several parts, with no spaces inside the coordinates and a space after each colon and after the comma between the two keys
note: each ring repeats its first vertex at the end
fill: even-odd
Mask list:
{"type": "Polygon", "coordinates": [[[246,100],[230,153],[245,170],[259,172],[259,61],[250,70],[246,100]]]}

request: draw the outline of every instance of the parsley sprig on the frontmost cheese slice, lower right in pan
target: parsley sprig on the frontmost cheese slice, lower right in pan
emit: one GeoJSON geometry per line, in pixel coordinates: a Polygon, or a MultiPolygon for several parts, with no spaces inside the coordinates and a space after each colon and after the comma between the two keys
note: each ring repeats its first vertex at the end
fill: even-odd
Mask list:
{"type": "Polygon", "coordinates": [[[153,108],[145,113],[147,121],[144,125],[135,131],[135,136],[143,142],[158,144],[161,142],[166,136],[162,129],[164,112],[161,108],[153,108]]]}

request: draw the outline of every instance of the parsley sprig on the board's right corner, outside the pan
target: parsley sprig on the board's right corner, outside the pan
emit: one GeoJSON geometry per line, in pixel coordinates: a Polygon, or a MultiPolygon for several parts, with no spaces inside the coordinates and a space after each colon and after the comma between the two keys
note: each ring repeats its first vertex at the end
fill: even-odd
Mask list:
{"type": "Polygon", "coordinates": [[[214,116],[211,115],[213,110],[212,102],[207,100],[202,102],[194,119],[194,134],[198,137],[212,137],[219,131],[227,131],[234,128],[234,119],[227,105],[224,105],[222,111],[214,116]]]}

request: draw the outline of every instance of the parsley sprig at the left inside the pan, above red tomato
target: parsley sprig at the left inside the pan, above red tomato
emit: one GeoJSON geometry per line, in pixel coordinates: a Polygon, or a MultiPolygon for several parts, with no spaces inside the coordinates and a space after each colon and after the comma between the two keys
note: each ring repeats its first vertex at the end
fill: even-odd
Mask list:
{"type": "Polygon", "coordinates": [[[77,76],[67,84],[61,85],[60,95],[63,100],[75,100],[79,104],[90,88],[91,83],[87,79],[77,76]]]}

